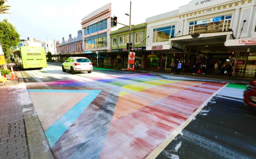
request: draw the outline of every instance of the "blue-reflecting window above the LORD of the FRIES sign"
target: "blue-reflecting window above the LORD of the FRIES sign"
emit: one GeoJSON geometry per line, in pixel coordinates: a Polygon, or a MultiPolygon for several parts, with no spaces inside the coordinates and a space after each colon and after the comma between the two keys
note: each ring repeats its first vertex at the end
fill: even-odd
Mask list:
{"type": "Polygon", "coordinates": [[[175,33],[175,25],[153,29],[153,42],[169,41],[175,33]]]}

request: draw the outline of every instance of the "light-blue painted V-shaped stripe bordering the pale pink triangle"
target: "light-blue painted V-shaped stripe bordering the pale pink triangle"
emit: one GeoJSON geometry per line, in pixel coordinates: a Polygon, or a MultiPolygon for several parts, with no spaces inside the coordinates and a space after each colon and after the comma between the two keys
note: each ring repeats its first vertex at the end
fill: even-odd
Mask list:
{"type": "Polygon", "coordinates": [[[70,92],[70,93],[89,93],[85,98],[73,106],[60,119],[45,130],[45,136],[49,142],[50,148],[58,141],[64,132],[74,123],[74,121],[83,113],[83,111],[98,96],[101,90],[32,90],[28,92],[70,92]]]}

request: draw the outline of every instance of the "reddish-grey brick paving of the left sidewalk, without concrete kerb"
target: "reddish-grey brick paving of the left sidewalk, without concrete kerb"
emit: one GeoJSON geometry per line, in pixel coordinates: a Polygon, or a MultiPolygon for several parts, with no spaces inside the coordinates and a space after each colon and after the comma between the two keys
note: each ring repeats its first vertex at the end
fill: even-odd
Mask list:
{"type": "Polygon", "coordinates": [[[29,158],[19,84],[0,87],[0,158],[29,158]]]}

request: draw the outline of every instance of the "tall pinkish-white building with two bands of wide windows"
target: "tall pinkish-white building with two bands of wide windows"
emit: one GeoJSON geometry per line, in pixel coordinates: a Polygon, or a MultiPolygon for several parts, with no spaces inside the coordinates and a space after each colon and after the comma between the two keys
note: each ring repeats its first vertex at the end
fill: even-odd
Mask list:
{"type": "Polygon", "coordinates": [[[110,49],[111,3],[86,15],[81,22],[84,57],[95,63],[107,63],[110,49]]]}

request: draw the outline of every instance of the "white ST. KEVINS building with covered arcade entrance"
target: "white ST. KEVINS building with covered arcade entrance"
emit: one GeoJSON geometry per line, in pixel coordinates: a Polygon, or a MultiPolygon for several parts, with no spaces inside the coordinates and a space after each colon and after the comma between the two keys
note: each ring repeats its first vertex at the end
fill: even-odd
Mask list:
{"type": "MultiPolygon", "coordinates": [[[[211,72],[219,61],[235,63],[235,73],[256,72],[256,0],[192,0],[146,20],[146,50],[169,64],[202,60],[211,72]],[[235,57],[230,57],[231,52],[235,57]],[[167,52],[165,58],[164,52],[167,52]]],[[[151,58],[152,58],[151,55],[151,58]]]]}

